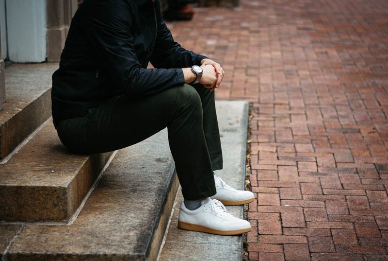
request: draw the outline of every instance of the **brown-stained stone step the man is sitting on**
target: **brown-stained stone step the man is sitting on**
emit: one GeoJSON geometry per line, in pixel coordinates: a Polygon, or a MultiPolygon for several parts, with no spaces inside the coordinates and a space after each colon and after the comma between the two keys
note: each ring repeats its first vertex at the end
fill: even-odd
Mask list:
{"type": "Polygon", "coordinates": [[[111,154],[68,153],[49,122],[1,165],[0,220],[67,222],[111,154]]]}

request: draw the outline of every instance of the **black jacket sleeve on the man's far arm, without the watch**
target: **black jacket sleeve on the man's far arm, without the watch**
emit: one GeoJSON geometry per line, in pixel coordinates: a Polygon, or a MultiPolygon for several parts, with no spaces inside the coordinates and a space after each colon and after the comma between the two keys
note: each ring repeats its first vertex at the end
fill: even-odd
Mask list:
{"type": "MultiPolygon", "coordinates": [[[[159,6],[158,1],[157,6],[159,6]]],[[[182,48],[174,41],[160,12],[157,12],[156,15],[158,19],[158,35],[151,56],[151,64],[155,68],[187,68],[193,65],[200,65],[201,60],[207,58],[204,55],[182,48]]]]}

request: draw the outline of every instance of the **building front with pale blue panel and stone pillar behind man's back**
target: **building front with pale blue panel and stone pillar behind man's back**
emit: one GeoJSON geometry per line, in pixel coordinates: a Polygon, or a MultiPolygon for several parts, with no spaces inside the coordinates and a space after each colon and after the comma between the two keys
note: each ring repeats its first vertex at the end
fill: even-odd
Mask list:
{"type": "Polygon", "coordinates": [[[78,0],[0,0],[0,109],[4,60],[58,62],[78,0]]]}

